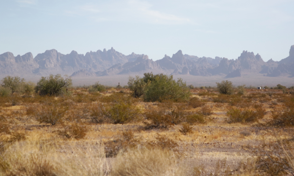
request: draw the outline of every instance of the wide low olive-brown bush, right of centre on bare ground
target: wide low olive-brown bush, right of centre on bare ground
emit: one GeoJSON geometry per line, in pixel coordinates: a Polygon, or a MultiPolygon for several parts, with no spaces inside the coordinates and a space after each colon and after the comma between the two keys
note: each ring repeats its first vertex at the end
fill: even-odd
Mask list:
{"type": "Polygon", "coordinates": [[[258,107],[252,110],[242,110],[241,108],[230,108],[227,113],[227,121],[229,123],[244,123],[244,122],[255,122],[258,119],[262,119],[265,115],[265,110],[262,107],[258,107]]]}

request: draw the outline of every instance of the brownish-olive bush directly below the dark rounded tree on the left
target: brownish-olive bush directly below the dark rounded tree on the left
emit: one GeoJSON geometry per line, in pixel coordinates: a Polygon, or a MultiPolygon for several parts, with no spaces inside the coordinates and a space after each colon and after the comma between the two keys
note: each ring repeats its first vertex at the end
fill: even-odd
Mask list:
{"type": "Polygon", "coordinates": [[[41,111],[36,113],[37,121],[55,125],[63,121],[63,117],[68,107],[54,103],[52,105],[43,105],[41,111]]]}

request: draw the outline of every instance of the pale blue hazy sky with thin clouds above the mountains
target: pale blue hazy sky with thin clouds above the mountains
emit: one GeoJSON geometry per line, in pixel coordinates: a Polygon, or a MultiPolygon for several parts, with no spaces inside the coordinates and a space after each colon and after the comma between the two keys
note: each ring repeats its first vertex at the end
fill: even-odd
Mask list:
{"type": "Polygon", "coordinates": [[[0,0],[0,54],[107,50],[158,60],[179,49],[281,60],[294,45],[294,0],[0,0]]]}

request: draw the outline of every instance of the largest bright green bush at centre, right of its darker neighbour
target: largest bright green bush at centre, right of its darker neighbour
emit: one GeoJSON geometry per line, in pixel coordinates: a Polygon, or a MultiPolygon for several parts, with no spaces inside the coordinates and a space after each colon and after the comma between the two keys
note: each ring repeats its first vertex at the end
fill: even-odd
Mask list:
{"type": "Polygon", "coordinates": [[[189,96],[189,89],[186,87],[186,82],[183,82],[182,79],[176,81],[173,79],[172,75],[158,74],[155,75],[155,79],[146,86],[143,98],[147,102],[161,102],[164,100],[187,100],[189,96]]]}

